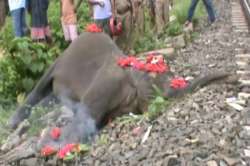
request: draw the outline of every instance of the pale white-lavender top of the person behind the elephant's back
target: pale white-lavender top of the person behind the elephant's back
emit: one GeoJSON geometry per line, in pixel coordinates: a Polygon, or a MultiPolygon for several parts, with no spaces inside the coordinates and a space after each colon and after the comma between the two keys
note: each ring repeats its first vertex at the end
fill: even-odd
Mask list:
{"type": "Polygon", "coordinates": [[[106,19],[112,16],[112,7],[110,0],[103,0],[104,7],[100,5],[93,6],[94,20],[106,19]]]}

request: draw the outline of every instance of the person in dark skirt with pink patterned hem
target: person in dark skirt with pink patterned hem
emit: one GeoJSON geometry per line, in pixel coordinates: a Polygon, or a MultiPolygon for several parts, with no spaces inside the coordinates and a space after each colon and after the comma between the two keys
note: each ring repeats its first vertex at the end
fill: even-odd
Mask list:
{"type": "Polygon", "coordinates": [[[49,0],[31,0],[31,38],[35,42],[51,43],[51,32],[48,24],[47,10],[49,0]]]}

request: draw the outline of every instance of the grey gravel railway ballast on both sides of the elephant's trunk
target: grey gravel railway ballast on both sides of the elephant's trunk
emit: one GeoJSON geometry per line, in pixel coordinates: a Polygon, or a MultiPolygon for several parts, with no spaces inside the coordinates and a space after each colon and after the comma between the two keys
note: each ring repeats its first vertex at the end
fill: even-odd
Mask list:
{"type": "MultiPolygon", "coordinates": [[[[217,21],[198,27],[200,35],[170,61],[176,75],[234,73],[235,54],[250,53],[249,34],[232,29],[229,1],[215,3],[217,21]]],[[[240,91],[235,84],[211,84],[172,101],[154,121],[114,121],[102,131],[105,143],[95,143],[77,165],[250,165],[250,103],[236,111],[225,102],[240,91]],[[149,136],[142,141],[147,131],[149,136]]]]}

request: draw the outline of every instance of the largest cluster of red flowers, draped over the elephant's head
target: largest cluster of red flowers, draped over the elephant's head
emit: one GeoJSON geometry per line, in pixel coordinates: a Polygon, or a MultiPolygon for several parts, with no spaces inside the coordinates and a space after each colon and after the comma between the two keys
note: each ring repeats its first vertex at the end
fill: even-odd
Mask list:
{"type": "Polygon", "coordinates": [[[165,63],[163,55],[150,54],[146,57],[146,60],[140,60],[135,56],[121,57],[117,60],[117,64],[122,68],[133,67],[136,70],[153,73],[169,71],[169,67],[165,63]]]}

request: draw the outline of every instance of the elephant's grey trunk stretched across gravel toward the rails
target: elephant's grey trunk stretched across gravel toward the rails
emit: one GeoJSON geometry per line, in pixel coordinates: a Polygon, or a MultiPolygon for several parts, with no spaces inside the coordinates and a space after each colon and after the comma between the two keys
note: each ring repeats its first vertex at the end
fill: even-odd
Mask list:
{"type": "Polygon", "coordinates": [[[204,87],[210,84],[213,81],[226,79],[227,77],[231,76],[232,74],[227,72],[216,72],[212,74],[208,74],[205,76],[198,77],[191,81],[189,85],[183,89],[174,89],[170,86],[167,87],[167,90],[164,92],[164,97],[172,98],[172,97],[179,97],[186,93],[190,93],[195,91],[197,88],[204,87]]]}

